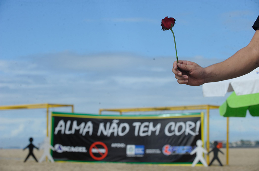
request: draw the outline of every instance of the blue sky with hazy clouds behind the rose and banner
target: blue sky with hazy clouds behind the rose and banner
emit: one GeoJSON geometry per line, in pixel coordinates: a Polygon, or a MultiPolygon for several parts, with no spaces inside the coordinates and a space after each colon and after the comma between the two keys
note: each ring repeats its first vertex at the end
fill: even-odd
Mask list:
{"type": "MultiPolygon", "coordinates": [[[[249,43],[258,9],[257,0],[0,1],[0,104],[74,104],[77,113],[221,105],[227,95],[204,98],[201,86],[177,84],[161,19],[176,18],[179,59],[206,67],[249,43]]],[[[259,140],[258,121],[231,118],[230,140],[259,140]]],[[[225,125],[212,111],[211,140],[225,140],[225,125]]],[[[0,147],[43,141],[45,110],[1,111],[0,135],[0,147]]]]}

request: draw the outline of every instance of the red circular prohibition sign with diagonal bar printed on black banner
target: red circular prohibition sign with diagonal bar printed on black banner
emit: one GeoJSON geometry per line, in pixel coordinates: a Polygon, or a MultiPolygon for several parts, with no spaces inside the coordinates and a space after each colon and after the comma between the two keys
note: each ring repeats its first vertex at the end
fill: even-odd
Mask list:
{"type": "Polygon", "coordinates": [[[102,160],[108,154],[108,148],[103,142],[95,142],[89,148],[90,156],[95,160],[102,160]]]}

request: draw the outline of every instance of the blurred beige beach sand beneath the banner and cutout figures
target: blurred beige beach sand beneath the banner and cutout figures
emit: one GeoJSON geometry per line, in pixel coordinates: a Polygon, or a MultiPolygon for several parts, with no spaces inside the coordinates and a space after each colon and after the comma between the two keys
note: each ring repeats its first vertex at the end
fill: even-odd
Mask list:
{"type": "MultiPolygon", "coordinates": [[[[226,149],[221,149],[224,153],[226,149]]],[[[259,149],[239,148],[229,150],[229,165],[226,166],[226,156],[219,158],[224,165],[218,166],[214,161],[211,167],[189,167],[158,164],[126,164],[126,163],[74,163],[74,162],[42,162],[36,163],[30,157],[23,162],[28,151],[22,149],[0,149],[0,171],[259,171],[259,149]]],[[[37,159],[42,151],[34,151],[37,159]]],[[[210,155],[210,160],[212,155],[210,155]]]]}

